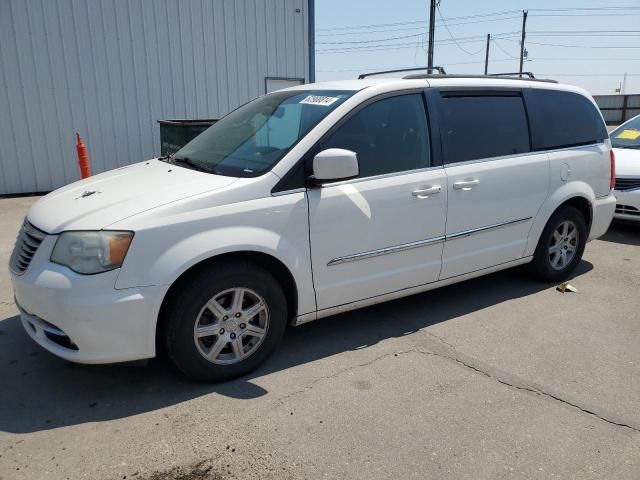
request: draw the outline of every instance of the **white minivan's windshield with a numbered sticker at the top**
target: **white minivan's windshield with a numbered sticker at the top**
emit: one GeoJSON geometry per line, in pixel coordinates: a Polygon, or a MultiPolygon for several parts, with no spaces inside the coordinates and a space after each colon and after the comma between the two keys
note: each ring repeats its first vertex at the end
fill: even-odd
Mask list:
{"type": "Polygon", "coordinates": [[[264,95],[214,123],[174,159],[220,175],[261,175],[354,93],[293,90],[264,95]]]}

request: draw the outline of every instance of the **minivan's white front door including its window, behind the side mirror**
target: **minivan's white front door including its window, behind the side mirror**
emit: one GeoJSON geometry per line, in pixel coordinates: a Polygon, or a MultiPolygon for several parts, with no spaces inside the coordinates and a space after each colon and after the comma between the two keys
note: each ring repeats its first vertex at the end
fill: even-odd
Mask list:
{"type": "Polygon", "coordinates": [[[318,310],[438,280],[446,176],[422,93],[366,102],[317,151],[328,148],[355,152],[360,173],[308,191],[318,310]]]}

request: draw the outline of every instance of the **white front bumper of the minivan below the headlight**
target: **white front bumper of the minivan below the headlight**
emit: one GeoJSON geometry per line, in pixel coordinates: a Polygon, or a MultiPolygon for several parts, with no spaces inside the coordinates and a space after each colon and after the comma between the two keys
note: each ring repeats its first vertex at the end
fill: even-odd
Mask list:
{"type": "Polygon", "coordinates": [[[50,263],[54,242],[55,237],[46,237],[26,271],[11,273],[29,336],[54,355],[78,363],[155,356],[156,321],[168,286],[116,290],[119,270],[79,275],[50,263]]]}

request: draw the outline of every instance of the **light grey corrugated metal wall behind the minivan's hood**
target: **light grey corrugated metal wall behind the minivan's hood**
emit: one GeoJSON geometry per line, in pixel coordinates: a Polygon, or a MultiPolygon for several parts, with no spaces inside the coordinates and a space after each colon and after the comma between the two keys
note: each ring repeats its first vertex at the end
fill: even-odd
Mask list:
{"type": "Polygon", "coordinates": [[[309,81],[308,0],[0,0],[0,194],[158,155],[157,120],[309,81]]]}

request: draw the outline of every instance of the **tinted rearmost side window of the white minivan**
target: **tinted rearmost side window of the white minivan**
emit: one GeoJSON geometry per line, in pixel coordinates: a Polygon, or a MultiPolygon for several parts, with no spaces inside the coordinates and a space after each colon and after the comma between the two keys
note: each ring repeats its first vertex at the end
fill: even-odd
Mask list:
{"type": "Polygon", "coordinates": [[[600,112],[578,93],[532,89],[525,99],[534,150],[589,145],[608,138],[600,112]]]}

